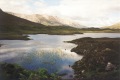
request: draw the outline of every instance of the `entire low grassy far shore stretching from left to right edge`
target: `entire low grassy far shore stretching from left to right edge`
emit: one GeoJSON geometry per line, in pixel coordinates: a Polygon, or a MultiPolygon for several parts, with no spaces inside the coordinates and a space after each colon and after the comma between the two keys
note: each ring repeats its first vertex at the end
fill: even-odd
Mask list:
{"type": "Polygon", "coordinates": [[[51,34],[51,35],[72,35],[82,33],[119,33],[119,29],[77,29],[64,26],[36,27],[30,30],[4,30],[0,32],[0,40],[29,40],[28,36],[23,34],[51,34]]]}

